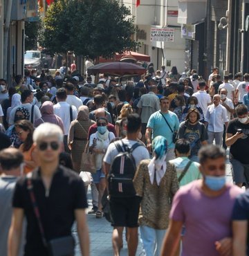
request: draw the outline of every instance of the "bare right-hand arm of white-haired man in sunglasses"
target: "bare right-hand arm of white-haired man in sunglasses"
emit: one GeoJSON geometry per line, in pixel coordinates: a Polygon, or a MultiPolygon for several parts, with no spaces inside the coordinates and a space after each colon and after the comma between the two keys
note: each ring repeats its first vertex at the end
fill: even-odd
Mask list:
{"type": "Polygon", "coordinates": [[[89,256],[89,228],[86,223],[84,209],[75,210],[75,219],[77,221],[77,233],[79,235],[82,256],[89,256]]]}

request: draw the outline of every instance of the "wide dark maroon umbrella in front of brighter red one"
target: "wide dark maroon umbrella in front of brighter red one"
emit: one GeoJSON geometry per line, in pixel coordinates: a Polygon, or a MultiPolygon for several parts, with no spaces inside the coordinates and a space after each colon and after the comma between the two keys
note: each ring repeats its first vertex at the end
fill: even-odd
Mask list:
{"type": "Polygon", "coordinates": [[[107,62],[91,66],[87,73],[95,75],[97,73],[107,73],[109,75],[142,75],[145,68],[128,62],[107,62]]]}

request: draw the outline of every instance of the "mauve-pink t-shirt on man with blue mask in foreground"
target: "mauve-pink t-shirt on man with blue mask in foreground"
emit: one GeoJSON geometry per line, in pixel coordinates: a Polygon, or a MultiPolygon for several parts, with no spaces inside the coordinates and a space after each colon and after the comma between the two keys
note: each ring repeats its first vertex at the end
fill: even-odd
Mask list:
{"type": "Polygon", "coordinates": [[[169,217],[185,224],[181,256],[219,256],[214,243],[231,237],[232,207],[241,189],[227,184],[223,194],[211,197],[202,192],[199,182],[178,190],[169,217]]]}

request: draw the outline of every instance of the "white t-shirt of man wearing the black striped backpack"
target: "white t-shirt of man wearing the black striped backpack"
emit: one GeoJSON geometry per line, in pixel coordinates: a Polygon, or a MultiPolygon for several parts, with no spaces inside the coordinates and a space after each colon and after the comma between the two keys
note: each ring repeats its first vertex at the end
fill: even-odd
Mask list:
{"type": "MultiPolygon", "coordinates": [[[[129,148],[131,148],[138,141],[137,140],[127,140],[126,138],[123,138],[122,142],[125,145],[128,145],[129,148]]],[[[114,143],[111,143],[109,145],[109,147],[107,148],[107,153],[104,155],[103,161],[105,163],[108,163],[109,165],[111,165],[111,163],[113,162],[114,158],[117,155],[118,155],[118,150],[117,150],[116,146],[114,145],[114,143]]],[[[135,159],[136,167],[138,167],[140,161],[142,161],[144,159],[149,159],[149,152],[146,147],[139,146],[132,152],[132,156],[135,159]]]]}

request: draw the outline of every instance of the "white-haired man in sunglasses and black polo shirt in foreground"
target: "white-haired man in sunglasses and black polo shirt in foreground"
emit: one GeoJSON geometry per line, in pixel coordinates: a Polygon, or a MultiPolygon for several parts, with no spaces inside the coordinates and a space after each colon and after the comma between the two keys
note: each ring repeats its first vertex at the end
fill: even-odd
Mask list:
{"type": "MultiPolygon", "coordinates": [[[[89,232],[84,183],[75,172],[59,165],[63,148],[62,130],[54,124],[39,125],[33,134],[39,167],[15,187],[8,255],[17,256],[24,217],[27,220],[24,256],[48,256],[48,248],[73,250],[71,228],[77,222],[80,249],[89,256],[89,232]],[[48,246],[50,245],[50,246],[48,246]]],[[[68,255],[71,255],[68,253],[68,255]]]]}

